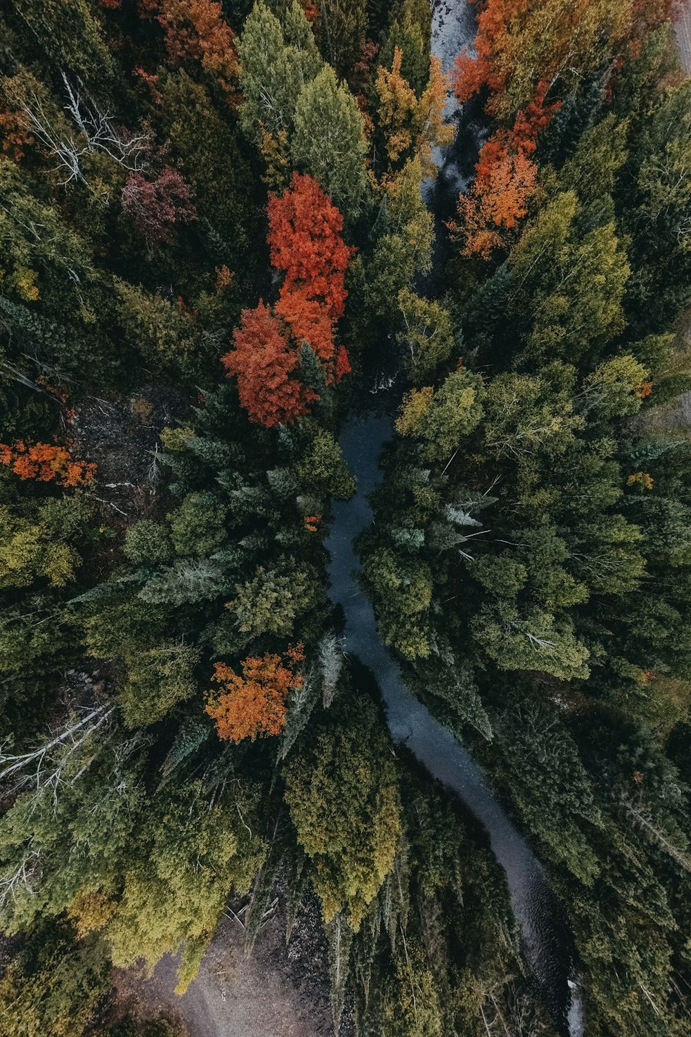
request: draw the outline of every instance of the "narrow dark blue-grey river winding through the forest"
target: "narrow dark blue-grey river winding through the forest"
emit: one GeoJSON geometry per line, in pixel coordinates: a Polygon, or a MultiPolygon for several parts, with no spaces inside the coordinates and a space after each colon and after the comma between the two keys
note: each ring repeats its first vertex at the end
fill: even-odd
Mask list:
{"type": "MultiPolygon", "coordinates": [[[[432,53],[441,58],[444,72],[455,55],[470,46],[473,35],[474,22],[466,0],[434,0],[432,53]]],[[[450,120],[458,118],[451,99],[445,114],[450,120]]],[[[476,153],[480,133],[468,141],[476,153]]],[[[445,188],[447,193],[458,193],[465,187],[458,159],[462,145],[462,141],[457,141],[445,153],[438,150],[435,155],[442,180],[439,187],[445,188]]],[[[428,185],[425,194],[430,203],[434,193],[428,185]]],[[[351,501],[334,504],[334,522],[326,539],[330,553],[330,598],[345,614],[348,652],[372,671],[379,684],[394,740],[404,742],[429,774],[456,792],[487,830],[492,851],[507,875],[527,964],[559,1030],[569,1037],[582,1037],[582,1003],[578,984],[570,976],[569,934],[544,869],[467,750],[403,683],[398,665],[379,640],[372,604],[359,587],[359,559],[353,541],[373,521],[368,496],[382,479],[379,457],[393,436],[393,418],[375,405],[381,400],[381,393],[375,394],[373,390],[380,389],[386,394],[392,381],[385,373],[370,376],[371,395],[367,391],[361,395],[359,403],[352,407],[342,428],[339,442],[357,479],[357,492],[351,501]],[[371,403],[363,407],[363,396],[367,400],[368,395],[371,403]]]]}

